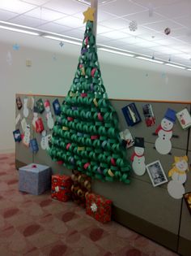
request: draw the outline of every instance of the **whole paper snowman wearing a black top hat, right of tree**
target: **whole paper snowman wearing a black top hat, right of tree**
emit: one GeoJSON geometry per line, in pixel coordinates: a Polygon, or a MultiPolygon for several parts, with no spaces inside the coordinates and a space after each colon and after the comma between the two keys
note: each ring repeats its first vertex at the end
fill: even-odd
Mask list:
{"type": "Polygon", "coordinates": [[[144,138],[134,138],[134,154],[131,156],[132,168],[134,173],[142,176],[146,171],[145,157],[144,157],[144,138]]]}

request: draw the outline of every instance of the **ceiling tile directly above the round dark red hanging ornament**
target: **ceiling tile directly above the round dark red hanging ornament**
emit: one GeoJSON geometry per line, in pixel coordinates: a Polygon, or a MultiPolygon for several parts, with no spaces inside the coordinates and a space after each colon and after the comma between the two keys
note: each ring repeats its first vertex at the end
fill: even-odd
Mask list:
{"type": "Polygon", "coordinates": [[[170,28],[171,31],[176,28],[183,28],[180,24],[176,24],[172,20],[163,20],[152,24],[146,24],[144,27],[152,28],[157,32],[163,32],[165,28],[170,28]]]}

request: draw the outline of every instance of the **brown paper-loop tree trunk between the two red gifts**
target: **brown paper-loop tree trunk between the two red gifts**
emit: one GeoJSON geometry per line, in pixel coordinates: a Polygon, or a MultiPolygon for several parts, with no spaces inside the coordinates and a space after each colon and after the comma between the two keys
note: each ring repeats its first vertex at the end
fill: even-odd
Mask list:
{"type": "Polygon", "coordinates": [[[79,206],[86,207],[86,195],[91,192],[91,177],[74,172],[71,176],[74,184],[71,186],[71,197],[79,206]]]}

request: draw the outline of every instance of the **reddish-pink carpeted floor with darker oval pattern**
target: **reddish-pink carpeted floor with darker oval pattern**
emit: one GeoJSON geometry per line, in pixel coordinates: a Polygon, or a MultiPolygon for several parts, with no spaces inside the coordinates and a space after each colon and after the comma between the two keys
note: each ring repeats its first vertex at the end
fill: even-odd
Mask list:
{"type": "Polygon", "coordinates": [[[102,224],[74,202],[18,191],[15,155],[0,155],[0,256],[175,256],[124,228],[102,224]]]}

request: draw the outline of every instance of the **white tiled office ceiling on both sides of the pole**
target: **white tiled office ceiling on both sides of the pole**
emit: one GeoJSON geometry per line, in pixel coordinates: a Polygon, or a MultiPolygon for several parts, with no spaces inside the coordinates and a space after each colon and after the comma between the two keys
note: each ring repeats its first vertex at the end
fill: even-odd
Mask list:
{"type": "MultiPolygon", "coordinates": [[[[90,1],[87,1],[90,2],[90,1]]],[[[190,0],[98,1],[97,44],[146,54],[191,67],[190,0]],[[138,28],[129,30],[136,21],[138,28]],[[164,33],[170,28],[171,33],[164,33]]],[[[83,39],[77,0],[0,0],[0,20],[83,39]]]]}

